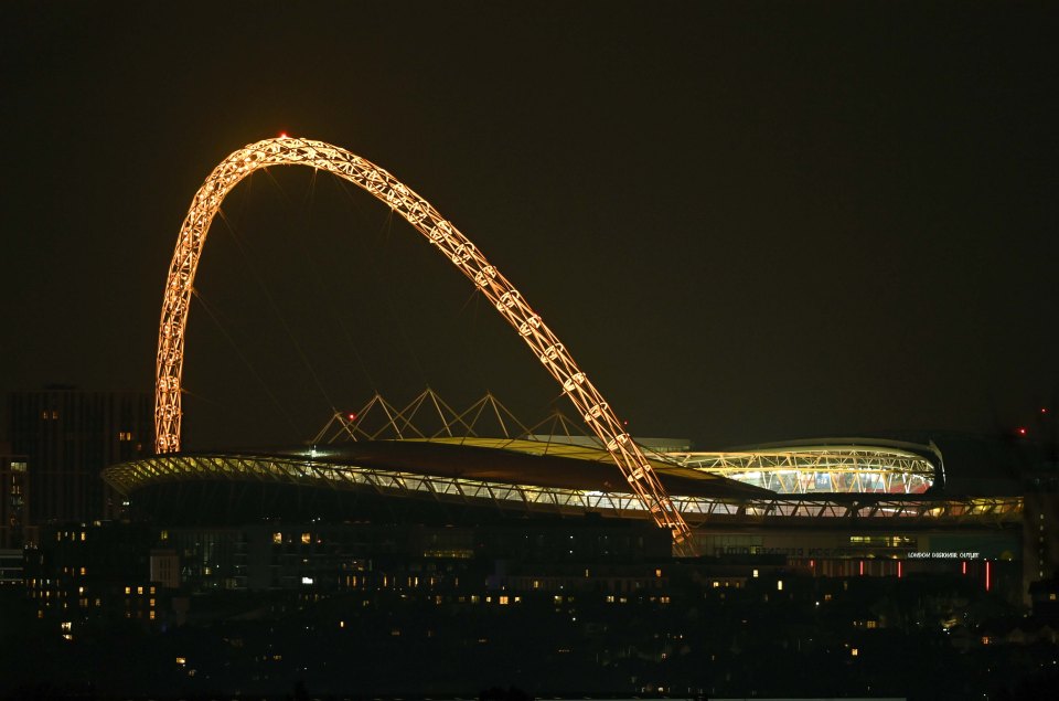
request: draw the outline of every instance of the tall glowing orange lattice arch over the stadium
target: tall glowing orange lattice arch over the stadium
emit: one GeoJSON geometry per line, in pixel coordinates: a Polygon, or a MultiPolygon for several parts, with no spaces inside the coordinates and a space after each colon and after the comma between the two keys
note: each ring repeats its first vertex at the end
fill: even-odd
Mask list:
{"type": "Polygon", "coordinates": [[[559,339],[500,270],[490,265],[469,238],[410,188],[378,166],[323,141],[280,137],[250,144],[214,168],[195,193],[180,229],[162,298],[156,365],[156,453],[180,452],[184,331],[195,270],[210,224],[232,188],[254,171],[269,166],[308,166],[334,173],[366,190],[404,216],[474,283],[518,332],[613,457],[637,499],[654,521],[670,529],[678,545],[688,541],[691,530],[639,446],[559,339]]]}

